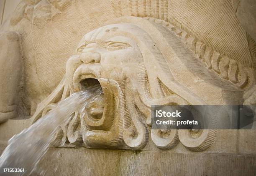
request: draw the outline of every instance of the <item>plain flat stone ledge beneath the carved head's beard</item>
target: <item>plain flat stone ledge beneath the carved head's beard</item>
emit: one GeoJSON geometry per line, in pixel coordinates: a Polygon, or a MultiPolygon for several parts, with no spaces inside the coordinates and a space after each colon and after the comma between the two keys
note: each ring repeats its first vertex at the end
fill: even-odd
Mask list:
{"type": "Polygon", "coordinates": [[[256,155],[52,148],[39,167],[46,175],[253,176],[256,155]]]}

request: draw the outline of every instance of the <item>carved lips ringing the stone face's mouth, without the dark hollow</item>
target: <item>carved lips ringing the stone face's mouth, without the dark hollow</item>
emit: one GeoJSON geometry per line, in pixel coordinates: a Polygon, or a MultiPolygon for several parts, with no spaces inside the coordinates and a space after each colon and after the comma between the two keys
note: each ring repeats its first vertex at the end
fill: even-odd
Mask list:
{"type": "Polygon", "coordinates": [[[112,124],[109,122],[113,120],[114,113],[113,109],[115,101],[113,89],[118,89],[118,84],[114,80],[100,77],[100,72],[101,66],[99,64],[84,64],[77,68],[73,76],[75,92],[83,89],[83,83],[87,79],[97,79],[102,88],[104,96],[104,108],[97,107],[96,109],[92,109],[93,107],[89,107],[89,109],[85,111],[84,120],[88,128],[91,130],[110,129],[112,126],[112,124]]]}

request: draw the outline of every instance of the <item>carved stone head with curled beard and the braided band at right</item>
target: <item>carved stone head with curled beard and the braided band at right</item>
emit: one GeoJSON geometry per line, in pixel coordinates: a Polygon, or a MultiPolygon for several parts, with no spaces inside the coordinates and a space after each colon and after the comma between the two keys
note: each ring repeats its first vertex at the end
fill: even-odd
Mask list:
{"type": "Polygon", "coordinates": [[[67,61],[66,74],[38,105],[33,121],[70,94],[100,84],[102,97],[89,104],[84,116],[75,112],[59,127],[54,146],[66,141],[71,147],[143,149],[152,141],[159,149],[179,142],[191,151],[208,149],[216,130],[151,130],[151,105],[207,104],[204,95],[179,83],[180,67],[230,90],[254,84],[252,69],[164,20],[120,17],[111,23],[82,37],[67,61]]]}

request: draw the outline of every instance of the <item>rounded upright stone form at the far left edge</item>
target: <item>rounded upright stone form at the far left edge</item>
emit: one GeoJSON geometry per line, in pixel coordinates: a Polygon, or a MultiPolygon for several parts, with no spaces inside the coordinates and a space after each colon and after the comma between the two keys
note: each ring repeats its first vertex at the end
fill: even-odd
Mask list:
{"type": "Polygon", "coordinates": [[[0,34],[0,123],[17,117],[21,104],[20,92],[23,85],[23,65],[20,36],[17,32],[0,34]]]}

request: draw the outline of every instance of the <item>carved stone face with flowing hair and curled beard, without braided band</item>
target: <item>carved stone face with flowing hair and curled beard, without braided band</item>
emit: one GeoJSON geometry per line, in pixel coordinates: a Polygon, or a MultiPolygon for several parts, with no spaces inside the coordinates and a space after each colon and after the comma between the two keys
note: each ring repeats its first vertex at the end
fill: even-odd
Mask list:
{"type": "MultiPolygon", "coordinates": [[[[69,124],[61,126],[56,141],[67,137],[78,146],[142,149],[148,144],[150,133],[160,149],[176,146],[179,139],[189,149],[207,149],[212,143],[202,141],[214,135],[214,131],[204,131],[198,139],[193,139],[195,146],[185,144],[183,139],[188,135],[178,134],[178,130],[149,131],[151,105],[201,105],[205,102],[174,79],[180,73],[177,68],[181,59],[173,49],[185,53],[191,50],[183,44],[179,46],[172,31],[167,33],[169,28],[159,26],[159,21],[154,26],[152,20],[130,20],[132,23],[107,25],[84,35],[75,55],[69,58],[64,79],[46,102],[57,101],[60,94],[64,99],[69,93],[95,84],[100,84],[103,94],[89,102],[82,113],[76,111],[69,124]]],[[[40,107],[34,119],[40,118],[47,107],[40,107]]]]}

